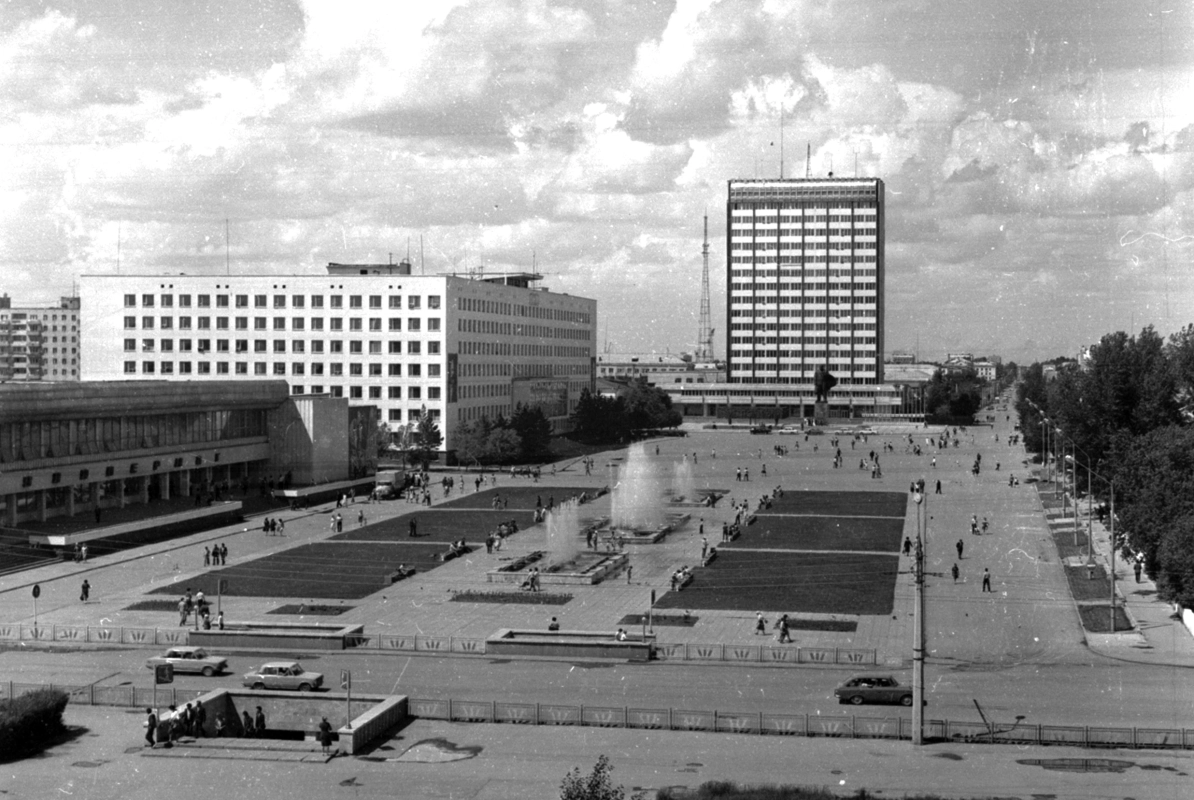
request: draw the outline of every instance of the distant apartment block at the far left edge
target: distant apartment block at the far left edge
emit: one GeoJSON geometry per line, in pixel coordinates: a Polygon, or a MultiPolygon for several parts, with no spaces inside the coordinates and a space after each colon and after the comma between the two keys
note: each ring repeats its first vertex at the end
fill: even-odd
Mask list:
{"type": "Polygon", "coordinates": [[[79,299],[13,307],[0,297],[0,383],[78,380],[79,299]]]}

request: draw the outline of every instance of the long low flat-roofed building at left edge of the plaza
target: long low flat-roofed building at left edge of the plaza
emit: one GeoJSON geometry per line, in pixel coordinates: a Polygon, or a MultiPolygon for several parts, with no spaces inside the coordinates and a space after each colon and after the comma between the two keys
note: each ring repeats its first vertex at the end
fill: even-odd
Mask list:
{"type": "Polygon", "coordinates": [[[376,408],[291,399],[285,381],[0,386],[0,524],[288,472],[296,484],[358,478],[376,470],[376,408]]]}

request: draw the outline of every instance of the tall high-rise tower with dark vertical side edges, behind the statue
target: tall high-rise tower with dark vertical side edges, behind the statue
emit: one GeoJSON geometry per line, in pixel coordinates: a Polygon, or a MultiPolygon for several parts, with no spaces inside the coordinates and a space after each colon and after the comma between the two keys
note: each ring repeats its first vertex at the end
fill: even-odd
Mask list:
{"type": "Polygon", "coordinates": [[[884,181],[731,180],[730,383],[882,382],[884,181]]]}

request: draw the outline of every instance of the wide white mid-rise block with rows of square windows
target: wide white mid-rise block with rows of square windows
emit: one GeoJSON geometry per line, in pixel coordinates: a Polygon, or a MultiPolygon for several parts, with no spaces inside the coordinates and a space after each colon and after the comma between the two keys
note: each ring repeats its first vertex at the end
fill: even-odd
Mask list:
{"type": "Polygon", "coordinates": [[[540,276],[104,275],[81,279],[85,380],[283,377],[291,394],[371,405],[392,431],[538,405],[556,426],[592,388],[597,302],[540,276]]]}

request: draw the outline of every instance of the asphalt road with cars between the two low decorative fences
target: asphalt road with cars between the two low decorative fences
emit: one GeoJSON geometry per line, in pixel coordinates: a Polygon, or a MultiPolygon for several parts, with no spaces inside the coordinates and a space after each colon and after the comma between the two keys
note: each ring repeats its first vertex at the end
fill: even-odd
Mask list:
{"type": "MultiPolygon", "coordinates": [[[[16,648],[0,652],[0,678],[31,683],[148,687],[146,650],[74,651],[16,648]]],[[[230,672],[215,678],[177,676],[176,687],[238,687],[240,676],[278,654],[238,653],[230,672]]],[[[721,712],[850,714],[833,688],[857,670],[758,667],[718,664],[618,664],[493,658],[443,658],[367,653],[303,654],[334,687],[352,670],[355,691],[417,697],[497,700],[592,706],[632,706],[721,712]]],[[[907,682],[909,676],[897,672],[907,682]]],[[[1194,716],[1190,673],[1181,667],[1119,663],[1093,657],[1087,664],[999,667],[929,664],[928,719],[979,721],[974,701],[1001,722],[1023,716],[1041,725],[1180,727],[1194,716]],[[1112,722],[1114,720],[1114,722],[1112,722]]],[[[867,707],[868,715],[906,715],[894,706],[867,707]]]]}

